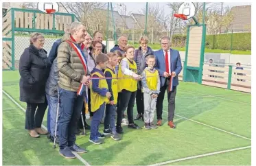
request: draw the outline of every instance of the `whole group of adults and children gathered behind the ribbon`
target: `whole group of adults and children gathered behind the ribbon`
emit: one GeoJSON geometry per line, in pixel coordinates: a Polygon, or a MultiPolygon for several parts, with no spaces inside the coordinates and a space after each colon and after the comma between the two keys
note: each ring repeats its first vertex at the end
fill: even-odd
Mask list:
{"type": "Polygon", "coordinates": [[[66,27],[62,38],[56,40],[48,56],[43,49],[43,34],[33,33],[30,47],[20,58],[20,100],[27,103],[25,129],[35,138],[49,132],[49,139],[53,140],[57,135],[60,154],[65,158],[75,158],[72,152],[87,152],[75,144],[75,132],[81,120],[91,130],[89,141],[95,144],[102,143],[106,135],[121,139],[126,108],[128,128],[139,129],[135,123],[138,119],[143,119],[146,129],[162,126],[165,91],[167,124],[176,127],[175,97],[182,65],[179,52],[170,48],[170,38],[163,36],[162,48],[152,51],[146,36],[139,39],[139,49],[127,45],[126,36],[121,36],[110,52],[102,39],[102,33],[95,32],[91,38],[82,23],[73,22],[66,27]],[[138,115],[134,119],[135,100],[138,115]],[[85,116],[81,117],[86,104],[91,126],[85,116]],[[41,128],[47,106],[48,131],[41,128]],[[102,119],[103,133],[99,131],[102,119]]]}

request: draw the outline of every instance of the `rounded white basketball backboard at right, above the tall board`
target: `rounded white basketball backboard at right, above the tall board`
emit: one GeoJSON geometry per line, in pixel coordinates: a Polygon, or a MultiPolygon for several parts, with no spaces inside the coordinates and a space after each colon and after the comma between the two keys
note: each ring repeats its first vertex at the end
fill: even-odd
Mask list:
{"type": "Polygon", "coordinates": [[[193,2],[184,2],[181,4],[180,8],[178,8],[178,14],[184,14],[187,16],[187,19],[190,19],[195,15],[196,6],[193,2]]]}

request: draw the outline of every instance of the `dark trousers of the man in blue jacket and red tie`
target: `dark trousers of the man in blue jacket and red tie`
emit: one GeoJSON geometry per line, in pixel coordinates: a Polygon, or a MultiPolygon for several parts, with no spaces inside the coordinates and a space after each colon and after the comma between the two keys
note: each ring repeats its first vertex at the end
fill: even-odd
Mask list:
{"type": "Polygon", "coordinates": [[[167,91],[167,99],[168,99],[168,121],[172,121],[174,119],[174,111],[175,111],[175,97],[176,97],[176,86],[174,86],[172,92],[169,91],[170,80],[165,79],[165,84],[160,88],[159,96],[156,100],[156,116],[157,119],[163,119],[163,99],[165,99],[165,91],[167,91]]]}

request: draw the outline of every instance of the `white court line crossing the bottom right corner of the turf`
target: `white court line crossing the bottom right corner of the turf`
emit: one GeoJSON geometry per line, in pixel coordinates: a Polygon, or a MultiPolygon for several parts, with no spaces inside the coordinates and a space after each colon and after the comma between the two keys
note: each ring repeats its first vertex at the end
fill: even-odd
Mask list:
{"type": "Polygon", "coordinates": [[[170,163],[176,163],[178,161],[187,161],[187,160],[191,160],[191,159],[194,159],[194,158],[212,156],[212,155],[215,155],[215,154],[223,154],[223,153],[227,153],[227,152],[234,152],[234,151],[237,151],[237,150],[245,150],[245,149],[248,149],[248,148],[251,148],[251,146],[237,147],[237,148],[234,148],[234,149],[231,149],[231,150],[222,150],[222,151],[218,151],[218,152],[211,152],[211,153],[207,153],[207,154],[200,154],[200,155],[196,155],[196,156],[178,158],[178,159],[175,159],[175,160],[172,160],[172,161],[165,161],[165,162],[162,162],[162,163],[156,163],[156,164],[150,165],[150,166],[166,165],[166,164],[170,164],[170,163]]]}

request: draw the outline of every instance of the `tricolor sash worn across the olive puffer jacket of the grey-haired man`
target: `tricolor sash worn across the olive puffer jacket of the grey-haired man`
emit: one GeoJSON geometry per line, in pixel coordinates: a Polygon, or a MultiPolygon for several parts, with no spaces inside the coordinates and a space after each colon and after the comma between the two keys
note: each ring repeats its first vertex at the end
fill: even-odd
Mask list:
{"type": "MultiPolygon", "coordinates": [[[[70,41],[67,41],[67,43],[69,43],[69,45],[75,50],[76,54],[78,54],[78,57],[80,58],[80,60],[82,62],[82,66],[84,67],[84,71],[85,71],[85,73],[87,73],[87,63],[86,63],[85,57],[82,54],[82,51],[74,43],[71,43],[70,41]]],[[[87,86],[85,84],[81,83],[79,88],[78,88],[77,94],[82,95],[82,92],[84,90],[87,90],[87,86]]],[[[85,95],[85,99],[86,99],[86,102],[88,102],[87,93],[85,95]]]]}

